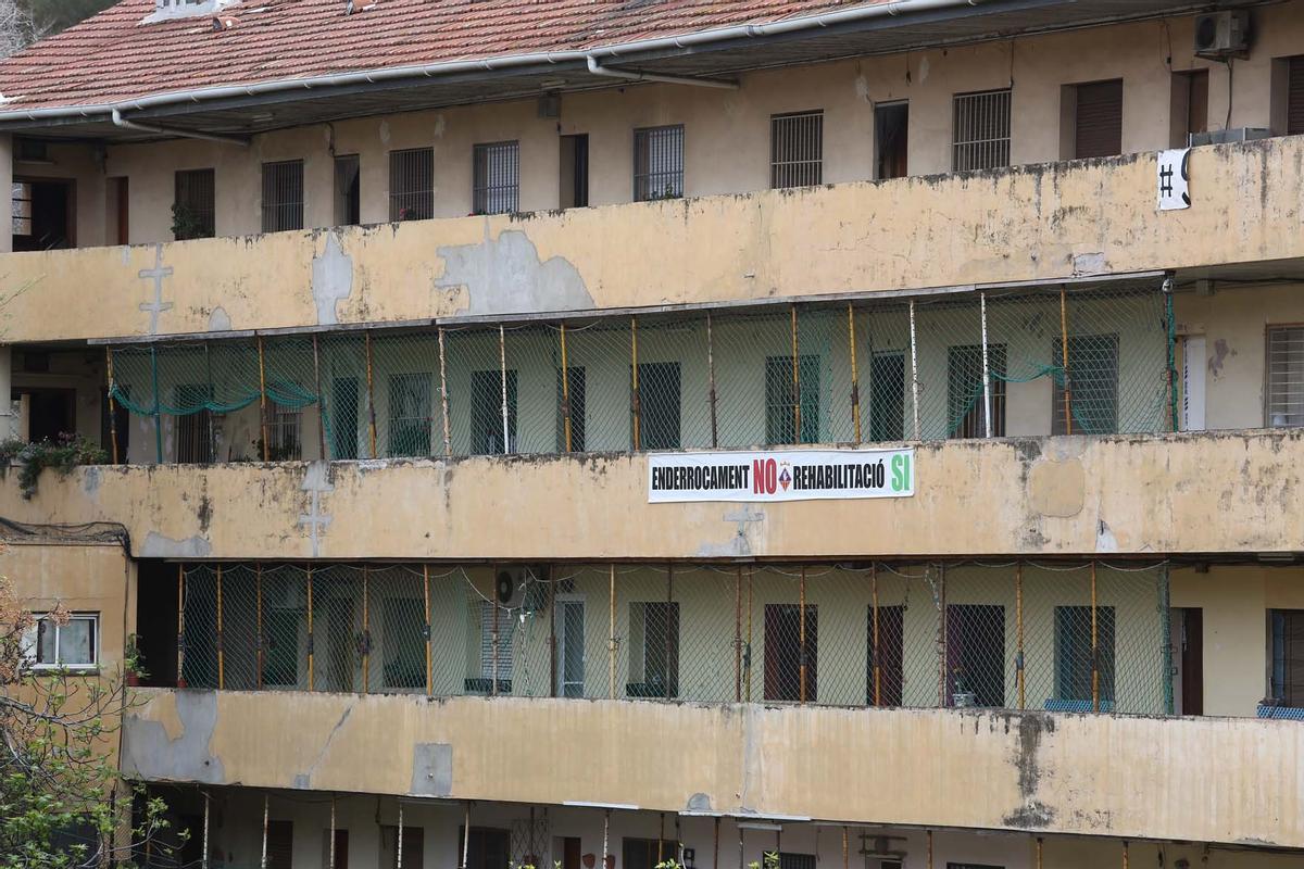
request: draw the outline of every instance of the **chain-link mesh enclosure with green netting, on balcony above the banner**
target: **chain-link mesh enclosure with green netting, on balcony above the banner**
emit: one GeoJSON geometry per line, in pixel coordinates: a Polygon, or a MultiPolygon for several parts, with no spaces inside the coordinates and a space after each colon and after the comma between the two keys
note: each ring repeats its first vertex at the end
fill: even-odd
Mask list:
{"type": "Polygon", "coordinates": [[[128,344],[110,396],[146,423],[106,446],[210,463],[1166,431],[1170,301],[1151,281],[128,344]]]}

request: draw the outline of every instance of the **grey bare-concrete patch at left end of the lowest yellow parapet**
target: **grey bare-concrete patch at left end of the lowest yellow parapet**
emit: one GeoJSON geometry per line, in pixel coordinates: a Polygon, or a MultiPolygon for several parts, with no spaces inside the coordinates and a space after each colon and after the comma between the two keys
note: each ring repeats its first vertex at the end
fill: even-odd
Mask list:
{"type": "Polygon", "coordinates": [[[209,753],[218,723],[218,694],[213,691],[173,693],[179,736],[162,722],[128,715],[123,723],[123,770],[154,782],[226,782],[222,761],[209,753]]]}

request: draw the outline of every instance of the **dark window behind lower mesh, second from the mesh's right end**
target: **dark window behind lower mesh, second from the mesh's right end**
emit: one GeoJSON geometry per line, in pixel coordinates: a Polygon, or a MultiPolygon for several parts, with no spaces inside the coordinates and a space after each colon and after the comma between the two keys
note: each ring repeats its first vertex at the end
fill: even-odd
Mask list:
{"type": "Polygon", "coordinates": [[[1005,607],[947,605],[947,704],[1005,705],[1005,607]]]}

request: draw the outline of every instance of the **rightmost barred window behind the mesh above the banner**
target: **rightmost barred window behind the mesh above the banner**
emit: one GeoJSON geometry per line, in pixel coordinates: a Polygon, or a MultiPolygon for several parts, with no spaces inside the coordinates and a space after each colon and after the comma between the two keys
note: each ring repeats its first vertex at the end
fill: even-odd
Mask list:
{"type": "MultiPolygon", "coordinates": [[[[1056,337],[1051,352],[1064,358],[1064,340],[1056,337]]],[[[1068,339],[1069,397],[1074,434],[1112,434],[1119,430],[1119,336],[1071,335],[1068,339]]],[[[1051,434],[1067,434],[1064,383],[1055,379],[1051,434]]]]}

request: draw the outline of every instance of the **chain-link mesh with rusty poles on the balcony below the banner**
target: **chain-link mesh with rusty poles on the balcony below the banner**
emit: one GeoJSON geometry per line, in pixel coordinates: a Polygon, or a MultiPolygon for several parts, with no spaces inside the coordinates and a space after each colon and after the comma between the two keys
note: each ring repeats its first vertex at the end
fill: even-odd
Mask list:
{"type": "Polygon", "coordinates": [[[1171,710],[1167,568],[202,564],[224,689],[1171,710]]]}

